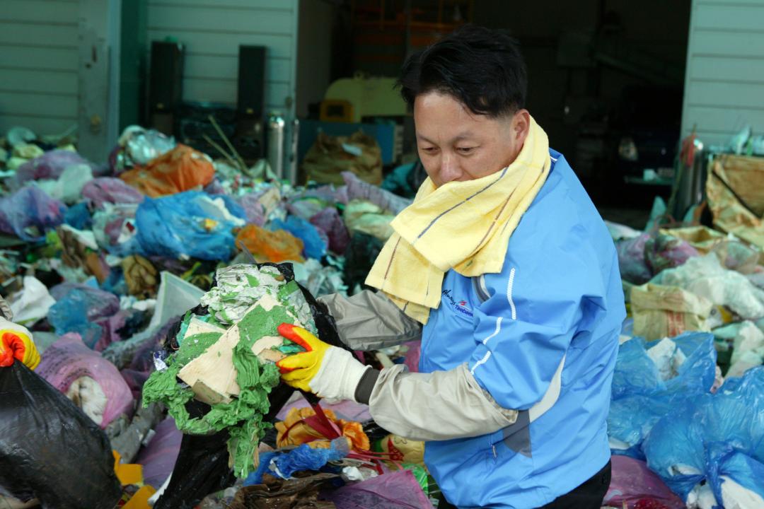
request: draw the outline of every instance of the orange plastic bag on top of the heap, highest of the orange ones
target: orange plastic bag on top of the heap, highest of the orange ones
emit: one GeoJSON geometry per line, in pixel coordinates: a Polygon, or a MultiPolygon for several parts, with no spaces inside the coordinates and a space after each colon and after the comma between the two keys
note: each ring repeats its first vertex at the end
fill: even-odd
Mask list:
{"type": "Polygon", "coordinates": [[[215,166],[203,153],[179,144],[151,159],[145,167],[122,173],[120,178],[144,195],[157,198],[204,187],[215,178],[215,166]]]}

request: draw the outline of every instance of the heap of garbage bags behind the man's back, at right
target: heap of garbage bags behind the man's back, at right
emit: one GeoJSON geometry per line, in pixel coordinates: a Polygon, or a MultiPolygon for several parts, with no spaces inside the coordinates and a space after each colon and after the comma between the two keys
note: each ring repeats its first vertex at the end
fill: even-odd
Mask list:
{"type": "Polygon", "coordinates": [[[629,311],[607,421],[610,507],[764,507],[764,230],[749,205],[764,198],[749,185],[764,160],[743,159],[711,165],[708,226],[608,224],[629,311]]]}

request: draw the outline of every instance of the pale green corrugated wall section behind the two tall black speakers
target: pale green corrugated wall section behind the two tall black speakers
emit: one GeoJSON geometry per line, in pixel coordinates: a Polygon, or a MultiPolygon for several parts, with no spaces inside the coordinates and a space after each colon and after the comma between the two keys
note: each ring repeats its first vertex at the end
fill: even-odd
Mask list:
{"type": "Polygon", "coordinates": [[[149,41],[186,45],[183,98],[234,105],[240,44],[267,46],[267,107],[293,113],[297,0],[149,0],[149,41]]]}

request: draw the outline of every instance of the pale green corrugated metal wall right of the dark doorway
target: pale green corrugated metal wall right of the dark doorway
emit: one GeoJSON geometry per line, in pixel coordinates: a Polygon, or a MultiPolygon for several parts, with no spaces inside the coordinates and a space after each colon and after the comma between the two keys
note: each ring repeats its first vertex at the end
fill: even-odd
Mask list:
{"type": "Polygon", "coordinates": [[[764,132],[764,0],[693,0],[682,136],[724,144],[764,132]]]}

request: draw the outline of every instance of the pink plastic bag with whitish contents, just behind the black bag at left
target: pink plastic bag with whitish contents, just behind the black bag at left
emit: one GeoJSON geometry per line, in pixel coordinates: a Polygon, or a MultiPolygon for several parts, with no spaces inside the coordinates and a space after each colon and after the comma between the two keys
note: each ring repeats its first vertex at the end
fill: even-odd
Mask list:
{"type": "MultiPolygon", "coordinates": [[[[35,372],[64,394],[77,379],[89,377],[95,380],[106,398],[101,421],[96,420],[102,428],[121,414],[128,414],[128,417],[132,414],[133,395],[125,379],[111,362],[85,346],[77,333],[64,334],[48,346],[35,372]]],[[[83,401],[75,402],[82,408],[83,401]]]]}

